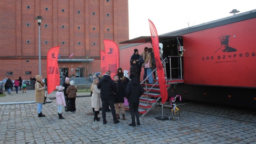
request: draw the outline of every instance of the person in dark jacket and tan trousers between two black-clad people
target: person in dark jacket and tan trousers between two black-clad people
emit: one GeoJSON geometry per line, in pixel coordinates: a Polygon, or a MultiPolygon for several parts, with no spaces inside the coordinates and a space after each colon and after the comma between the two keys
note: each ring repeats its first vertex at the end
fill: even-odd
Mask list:
{"type": "MultiPolygon", "coordinates": [[[[123,77],[122,77],[123,78],[123,77]]],[[[120,119],[119,113],[120,108],[123,116],[123,120],[125,120],[125,111],[124,111],[124,97],[125,97],[125,84],[121,81],[117,75],[114,76],[115,85],[117,87],[117,93],[114,94],[114,103],[116,109],[116,118],[120,119]],[[120,106],[119,106],[120,105],[120,106]],[[120,107],[120,108],[119,108],[120,107]]]]}

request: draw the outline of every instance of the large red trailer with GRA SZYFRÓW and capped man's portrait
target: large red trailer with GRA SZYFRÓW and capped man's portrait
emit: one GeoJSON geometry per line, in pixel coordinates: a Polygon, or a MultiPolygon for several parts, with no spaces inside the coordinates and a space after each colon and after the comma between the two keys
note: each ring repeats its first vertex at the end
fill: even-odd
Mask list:
{"type": "MultiPolygon", "coordinates": [[[[129,45],[120,47],[120,66],[129,70],[133,50],[152,47],[150,39],[121,42],[129,45]]],[[[171,85],[169,97],[256,108],[256,10],[159,35],[159,43],[163,58],[171,58],[167,77],[183,79],[171,85]],[[170,57],[179,55],[181,62],[170,57]]]]}

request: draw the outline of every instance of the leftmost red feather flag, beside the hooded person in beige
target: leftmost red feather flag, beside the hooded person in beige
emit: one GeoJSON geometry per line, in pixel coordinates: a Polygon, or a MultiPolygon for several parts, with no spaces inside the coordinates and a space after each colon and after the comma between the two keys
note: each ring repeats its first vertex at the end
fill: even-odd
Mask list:
{"type": "Polygon", "coordinates": [[[48,94],[60,85],[58,55],[60,46],[52,47],[47,53],[47,91],[48,94]]]}

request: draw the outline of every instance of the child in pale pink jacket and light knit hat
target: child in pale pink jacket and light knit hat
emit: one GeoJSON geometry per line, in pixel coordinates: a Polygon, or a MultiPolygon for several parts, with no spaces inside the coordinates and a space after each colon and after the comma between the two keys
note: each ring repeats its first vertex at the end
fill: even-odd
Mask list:
{"type": "Polygon", "coordinates": [[[58,90],[58,92],[56,93],[56,103],[58,105],[58,115],[59,115],[59,119],[63,119],[64,117],[62,117],[62,107],[66,106],[66,102],[65,102],[65,98],[64,98],[64,93],[62,92],[62,90],[65,89],[65,87],[62,86],[56,86],[56,89],[58,90]]]}

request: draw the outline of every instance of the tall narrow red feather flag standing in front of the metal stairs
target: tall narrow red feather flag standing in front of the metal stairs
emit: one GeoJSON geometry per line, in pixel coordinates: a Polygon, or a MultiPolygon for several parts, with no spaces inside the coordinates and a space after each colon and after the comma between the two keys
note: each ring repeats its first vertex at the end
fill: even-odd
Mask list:
{"type": "Polygon", "coordinates": [[[159,56],[159,39],[156,27],[152,21],[149,21],[149,27],[150,27],[150,33],[151,33],[151,40],[153,45],[153,50],[155,54],[155,61],[156,61],[156,70],[158,75],[158,82],[160,87],[160,93],[162,98],[162,104],[164,104],[167,100],[167,88],[166,88],[166,82],[165,82],[165,75],[164,75],[164,68],[159,56]]]}

